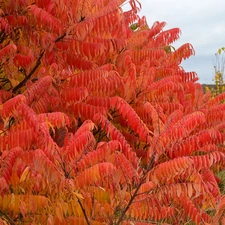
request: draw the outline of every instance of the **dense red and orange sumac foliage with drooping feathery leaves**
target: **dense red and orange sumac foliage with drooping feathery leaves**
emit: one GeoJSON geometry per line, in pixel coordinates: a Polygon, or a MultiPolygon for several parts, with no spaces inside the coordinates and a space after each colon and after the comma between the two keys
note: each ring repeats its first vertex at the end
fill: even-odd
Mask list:
{"type": "Polygon", "coordinates": [[[225,224],[225,93],[125,3],[0,2],[0,224],[225,224]]]}

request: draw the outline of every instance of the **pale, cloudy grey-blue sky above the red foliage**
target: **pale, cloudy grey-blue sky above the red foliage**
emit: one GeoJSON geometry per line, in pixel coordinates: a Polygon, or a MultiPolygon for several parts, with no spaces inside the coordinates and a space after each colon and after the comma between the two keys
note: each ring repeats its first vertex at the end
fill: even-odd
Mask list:
{"type": "Polygon", "coordinates": [[[195,56],[182,63],[186,71],[195,71],[200,83],[212,83],[215,52],[225,47],[224,0],[139,0],[139,15],[147,18],[148,25],[165,21],[170,29],[181,29],[181,37],[173,45],[177,48],[191,43],[195,56]]]}

